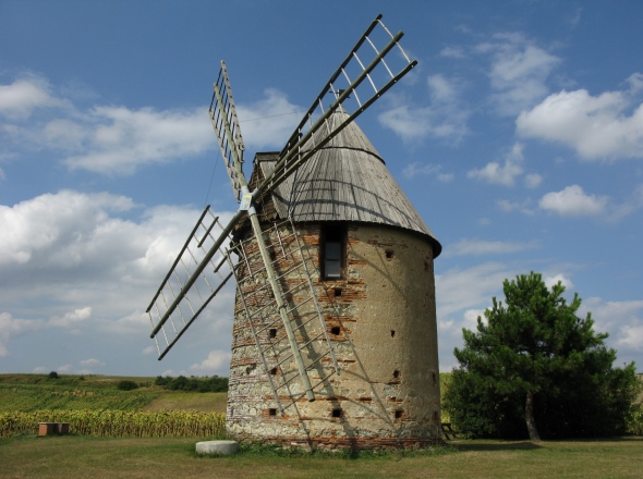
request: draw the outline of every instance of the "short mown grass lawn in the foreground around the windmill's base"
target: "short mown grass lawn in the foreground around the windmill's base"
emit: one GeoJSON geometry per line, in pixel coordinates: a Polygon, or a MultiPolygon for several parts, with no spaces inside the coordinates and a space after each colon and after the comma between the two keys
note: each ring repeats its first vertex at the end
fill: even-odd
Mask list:
{"type": "Polygon", "coordinates": [[[93,478],[641,478],[643,438],[454,441],[437,453],[199,457],[194,439],[25,435],[0,440],[0,476],[93,478]]]}

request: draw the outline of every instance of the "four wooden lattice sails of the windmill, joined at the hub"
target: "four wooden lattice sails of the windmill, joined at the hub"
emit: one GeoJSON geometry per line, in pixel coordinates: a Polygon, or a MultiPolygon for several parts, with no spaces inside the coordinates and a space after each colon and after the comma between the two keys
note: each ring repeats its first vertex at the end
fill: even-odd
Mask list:
{"type": "MultiPolygon", "coordinates": [[[[232,240],[231,234],[234,226],[242,218],[246,218],[247,214],[254,234],[253,240],[258,247],[258,251],[256,251],[258,253],[257,258],[263,263],[265,271],[265,278],[263,279],[265,283],[264,287],[271,290],[270,294],[275,299],[275,316],[281,319],[281,323],[287,332],[291,356],[296,364],[298,372],[294,377],[299,377],[303,389],[303,391],[298,389],[299,392],[293,394],[291,388],[292,378],[288,373],[282,373],[280,374],[282,378],[289,379],[284,379],[281,384],[275,384],[271,380],[272,390],[278,402],[282,388],[288,391],[287,395],[292,401],[296,401],[296,397],[303,394],[306,395],[308,401],[314,401],[313,389],[315,385],[311,384],[311,379],[308,378],[308,371],[311,371],[312,365],[310,363],[306,364],[301,354],[302,334],[298,329],[301,328],[302,320],[301,318],[293,320],[293,317],[296,316],[298,305],[292,303],[294,296],[292,292],[284,291],[280,285],[279,277],[275,271],[270,259],[270,251],[267,247],[270,241],[266,241],[267,237],[262,231],[254,204],[262,197],[263,193],[272,192],[290,175],[295,173],[316,151],[328,144],[415,66],[416,62],[410,60],[399,44],[402,36],[403,34],[401,32],[392,35],[381,22],[381,15],[378,15],[372,22],[344,61],[326,83],[322,93],[317,96],[287,142],[271,171],[252,193],[248,191],[247,182],[242,170],[244,144],[236,118],[230,82],[228,79],[228,72],[226,64],[221,62],[219,77],[214,84],[215,94],[210,102],[209,114],[232,184],[234,197],[241,202],[241,207],[226,226],[222,226],[218,219],[211,217],[211,213],[206,208],[206,211],[204,211],[187,238],[170,272],[149,304],[147,312],[153,324],[151,337],[157,341],[157,346],[158,335],[160,334],[162,337],[162,352],[161,346],[158,346],[159,359],[165,356],[185,330],[190,328],[215,296],[220,294],[219,292],[225,284],[232,277],[238,277],[236,269],[244,268],[244,261],[247,260],[247,255],[239,249],[243,245],[232,245],[230,249],[227,249],[226,244],[232,240]],[[325,107],[329,99],[330,105],[325,107]],[[331,118],[337,111],[352,111],[352,113],[348,114],[341,122],[337,122],[331,118]],[[323,134],[316,135],[317,132],[323,134]],[[239,257],[236,266],[231,257],[231,250],[235,250],[239,257]]],[[[283,253],[286,254],[286,250],[283,253]]],[[[310,272],[306,269],[305,260],[300,258],[298,261],[303,270],[305,270],[304,278],[307,277],[307,280],[304,282],[307,281],[308,285],[311,285],[310,272]]],[[[238,287],[241,292],[240,284],[238,284],[238,287]]],[[[244,294],[241,292],[243,302],[247,299],[244,294]]],[[[314,300],[316,303],[315,292],[312,286],[310,286],[310,292],[306,293],[304,300],[314,300]]],[[[325,339],[328,344],[328,352],[316,354],[313,363],[322,360],[323,357],[328,355],[335,364],[336,372],[339,372],[318,305],[316,309],[317,316],[320,319],[318,337],[325,339]]],[[[246,312],[251,327],[254,328],[247,308],[246,312]]],[[[259,333],[255,333],[254,335],[264,366],[267,370],[276,367],[279,368],[280,364],[274,366],[269,361],[269,356],[274,349],[266,348],[262,345],[259,333]]],[[[316,339],[313,341],[316,341],[316,339]]],[[[272,342],[269,343],[272,344],[272,342]]],[[[305,347],[306,344],[303,346],[305,347]]],[[[319,379],[319,382],[325,380],[325,378],[317,379],[319,379]]]]}

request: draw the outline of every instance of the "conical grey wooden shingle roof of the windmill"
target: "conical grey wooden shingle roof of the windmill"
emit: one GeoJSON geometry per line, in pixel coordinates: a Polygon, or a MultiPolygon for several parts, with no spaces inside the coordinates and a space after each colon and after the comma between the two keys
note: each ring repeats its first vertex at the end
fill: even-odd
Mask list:
{"type": "MultiPolygon", "coordinates": [[[[329,121],[342,122],[344,112],[329,121]]],[[[326,136],[320,128],[310,144],[326,136]]],[[[304,147],[304,149],[306,149],[304,147]]],[[[257,155],[263,175],[276,164],[276,155],[257,155]]],[[[355,122],[350,123],[324,148],[272,192],[277,213],[295,222],[350,221],[387,224],[425,235],[434,255],[441,245],[422,220],[384,160],[355,122]]]]}

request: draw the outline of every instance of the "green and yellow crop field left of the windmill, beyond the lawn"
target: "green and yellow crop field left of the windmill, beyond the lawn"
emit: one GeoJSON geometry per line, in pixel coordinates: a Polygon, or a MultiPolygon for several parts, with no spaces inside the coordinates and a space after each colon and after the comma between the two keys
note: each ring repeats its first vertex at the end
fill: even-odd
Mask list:
{"type": "Polygon", "coordinates": [[[168,391],[154,378],[0,374],[0,438],[69,422],[82,435],[220,437],[226,393],[168,391]],[[136,389],[120,390],[123,381],[136,389]]]}

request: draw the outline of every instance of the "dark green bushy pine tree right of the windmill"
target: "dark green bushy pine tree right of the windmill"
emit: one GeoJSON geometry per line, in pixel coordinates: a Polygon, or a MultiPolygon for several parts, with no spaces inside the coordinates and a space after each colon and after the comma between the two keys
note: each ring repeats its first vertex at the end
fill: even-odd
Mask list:
{"type": "Polygon", "coordinates": [[[568,304],[560,282],[548,290],[534,272],[506,280],[504,292],[454,351],[460,368],[444,404],[454,426],[533,441],[622,433],[640,389],[634,364],[612,368],[607,334],[594,332],[591,314],[577,316],[578,294],[568,304]]]}

